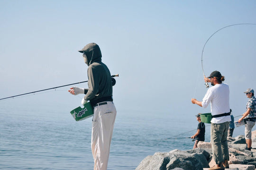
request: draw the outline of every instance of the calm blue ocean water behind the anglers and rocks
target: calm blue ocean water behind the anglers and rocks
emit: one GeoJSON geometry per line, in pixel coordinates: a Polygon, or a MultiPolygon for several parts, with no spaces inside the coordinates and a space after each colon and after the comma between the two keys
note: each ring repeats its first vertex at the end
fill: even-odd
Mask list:
{"type": "MultiPolygon", "coordinates": [[[[70,110],[0,102],[0,169],[93,170],[91,118],[76,122],[70,110]]],[[[155,152],[192,149],[191,139],[165,139],[192,136],[198,124],[194,115],[117,110],[108,170],[135,170],[155,152]]],[[[237,134],[243,129],[235,129],[237,134]]]]}

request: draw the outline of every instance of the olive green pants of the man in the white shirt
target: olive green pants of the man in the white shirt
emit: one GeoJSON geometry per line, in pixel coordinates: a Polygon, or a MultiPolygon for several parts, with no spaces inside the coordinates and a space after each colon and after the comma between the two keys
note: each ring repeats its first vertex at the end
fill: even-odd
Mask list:
{"type": "Polygon", "coordinates": [[[229,122],[221,124],[211,123],[210,142],[212,157],[216,164],[220,164],[225,160],[229,161],[229,147],[227,142],[228,130],[229,122]]]}

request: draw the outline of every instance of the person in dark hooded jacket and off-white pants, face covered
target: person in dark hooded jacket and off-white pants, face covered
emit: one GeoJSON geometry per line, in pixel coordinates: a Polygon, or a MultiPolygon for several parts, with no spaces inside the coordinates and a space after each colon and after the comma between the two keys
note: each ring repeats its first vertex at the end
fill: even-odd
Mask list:
{"type": "Polygon", "coordinates": [[[82,50],[84,62],[88,65],[88,87],[70,88],[73,95],[85,94],[82,105],[90,100],[93,107],[91,151],[94,170],[107,170],[110,155],[110,143],[116,118],[116,107],[112,98],[112,81],[108,67],[101,62],[99,45],[90,43],[82,50]]]}

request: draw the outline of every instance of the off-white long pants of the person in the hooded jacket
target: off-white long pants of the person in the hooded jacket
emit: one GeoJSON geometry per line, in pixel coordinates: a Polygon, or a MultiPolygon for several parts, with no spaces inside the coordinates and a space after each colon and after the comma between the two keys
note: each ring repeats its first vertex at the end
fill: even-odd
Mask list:
{"type": "MultiPolygon", "coordinates": [[[[101,102],[103,103],[103,102],[101,102]]],[[[93,110],[91,130],[91,152],[94,159],[94,170],[107,170],[110,143],[117,115],[113,102],[96,106],[93,110]]]]}

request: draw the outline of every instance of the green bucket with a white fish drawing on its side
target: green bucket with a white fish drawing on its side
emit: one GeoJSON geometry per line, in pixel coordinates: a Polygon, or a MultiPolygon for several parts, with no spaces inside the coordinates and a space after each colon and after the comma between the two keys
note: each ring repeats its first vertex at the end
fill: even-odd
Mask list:
{"type": "Polygon", "coordinates": [[[75,109],[70,111],[75,121],[84,120],[93,116],[93,108],[91,107],[91,103],[87,102],[83,106],[83,108],[76,107],[75,109]]]}

